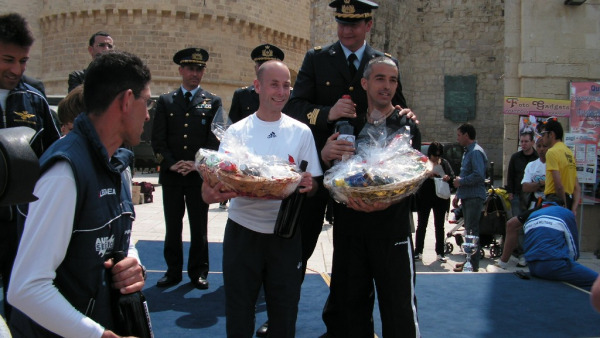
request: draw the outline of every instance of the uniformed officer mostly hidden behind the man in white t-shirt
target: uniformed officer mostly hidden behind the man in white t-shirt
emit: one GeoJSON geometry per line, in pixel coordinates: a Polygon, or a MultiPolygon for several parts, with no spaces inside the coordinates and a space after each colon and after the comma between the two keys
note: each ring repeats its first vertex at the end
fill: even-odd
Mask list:
{"type": "MultiPolygon", "coordinates": [[[[269,60],[283,61],[285,54],[281,49],[277,48],[277,46],[267,43],[254,48],[250,57],[252,58],[252,61],[254,61],[254,73],[256,73],[258,72],[260,65],[264,62],[269,60]]],[[[231,109],[229,109],[229,118],[231,119],[231,122],[236,123],[246,116],[252,115],[257,109],[258,93],[254,91],[254,85],[242,87],[233,93],[231,109]]]]}

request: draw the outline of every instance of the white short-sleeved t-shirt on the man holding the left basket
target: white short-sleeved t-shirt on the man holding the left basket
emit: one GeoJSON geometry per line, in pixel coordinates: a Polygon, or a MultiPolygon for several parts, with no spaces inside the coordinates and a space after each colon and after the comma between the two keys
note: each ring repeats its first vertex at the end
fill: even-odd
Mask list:
{"type": "MultiPolygon", "coordinates": [[[[231,138],[256,155],[275,155],[285,161],[291,156],[295,163],[306,160],[307,172],[313,177],[323,175],[310,128],[285,114],[275,122],[262,121],[256,113],[238,121],[225,132],[219,151],[225,151],[231,138]]],[[[235,154],[235,149],[227,150],[235,154]]],[[[280,200],[237,197],[231,200],[229,218],[252,231],[272,234],[280,205],[280,200]]]]}

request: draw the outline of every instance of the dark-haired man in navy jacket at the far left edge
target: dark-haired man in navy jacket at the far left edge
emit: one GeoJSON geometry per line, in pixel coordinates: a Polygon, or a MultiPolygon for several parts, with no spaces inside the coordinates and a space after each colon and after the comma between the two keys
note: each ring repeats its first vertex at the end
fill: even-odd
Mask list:
{"type": "MultiPolygon", "coordinates": [[[[0,16],[0,113],[3,116],[0,128],[24,126],[39,132],[31,147],[40,157],[60,138],[60,133],[44,96],[23,81],[33,41],[25,18],[16,13],[0,16]]],[[[0,267],[5,296],[17,253],[19,232],[22,231],[20,215],[26,213],[21,206],[0,207],[0,267]]],[[[10,305],[6,301],[4,314],[10,316],[10,305]]]]}

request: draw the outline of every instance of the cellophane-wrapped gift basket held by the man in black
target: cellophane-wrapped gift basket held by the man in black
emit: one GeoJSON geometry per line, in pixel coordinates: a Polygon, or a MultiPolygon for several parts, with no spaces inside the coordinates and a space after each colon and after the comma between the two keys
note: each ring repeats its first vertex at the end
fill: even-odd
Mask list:
{"type": "Polygon", "coordinates": [[[427,178],[427,157],[410,145],[410,129],[390,132],[366,124],[356,141],[356,155],[325,173],[324,185],[340,203],[350,197],[365,203],[397,202],[415,193],[427,178]]]}

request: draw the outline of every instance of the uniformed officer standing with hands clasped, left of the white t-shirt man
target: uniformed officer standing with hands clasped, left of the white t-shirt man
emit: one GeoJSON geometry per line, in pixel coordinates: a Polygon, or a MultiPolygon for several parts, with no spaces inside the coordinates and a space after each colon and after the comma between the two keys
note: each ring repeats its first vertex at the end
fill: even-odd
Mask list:
{"type": "Polygon", "coordinates": [[[183,268],[181,231],[187,207],[191,244],[188,276],[198,289],[208,289],[208,204],[202,200],[202,179],[194,169],[198,149],[217,150],[219,141],[210,130],[221,98],[203,90],[200,81],[206,70],[208,52],[201,48],[180,50],[173,56],[179,65],[181,87],[159,97],[152,129],[152,148],[161,170],[166,223],[164,256],[166,274],[159,287],[178,284],[183,268]]]}

